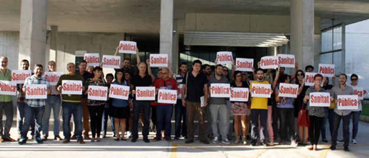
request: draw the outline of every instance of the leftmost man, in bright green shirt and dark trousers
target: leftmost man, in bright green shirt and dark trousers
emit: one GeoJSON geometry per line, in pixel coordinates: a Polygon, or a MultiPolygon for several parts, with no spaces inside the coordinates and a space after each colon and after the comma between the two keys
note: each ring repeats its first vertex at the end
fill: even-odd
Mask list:
{"type": "MultiPolygon", "coordinates": [[[[0,80],[11,80],[11,70],[7,69],[8,58],[0,56],[0,80]]],[[[3,141],[15,141],[10,137],[10,128],[13,123],[13,96],[0,95],[0,111],[5,111],[6,121],[3,128],[3,113],[0,114],[0,142],[3,141]]]]}

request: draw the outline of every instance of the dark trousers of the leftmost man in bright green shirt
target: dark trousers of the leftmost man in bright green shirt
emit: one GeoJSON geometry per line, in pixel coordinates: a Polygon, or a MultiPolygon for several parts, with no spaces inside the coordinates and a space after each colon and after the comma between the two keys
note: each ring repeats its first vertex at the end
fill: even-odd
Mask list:
{"type": "Polygon", "coordinates": [[[10,137],[11,123],[13,123],[13,102],[0,102],[0,137],[10,137]],[[3,128],[3,111],[5,111],[6,122],[3,128]]]}

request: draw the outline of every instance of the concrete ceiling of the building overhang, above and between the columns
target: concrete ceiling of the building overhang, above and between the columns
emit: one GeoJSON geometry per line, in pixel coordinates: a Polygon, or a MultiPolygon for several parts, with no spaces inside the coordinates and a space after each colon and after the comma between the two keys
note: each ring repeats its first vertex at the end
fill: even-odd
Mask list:
{"type": "MultiPolygon", "coordinates": [[[[20,0],[0,0],[0,31],[18,31],[20,0]]],[[[186,13],[289,15],[290,0],[175,0],[177,31],[186,13]]],[[[321,28],[369,18],[368,0],[315,0],[321,28]]],[[[159,34],[160,0],[48,0],[48,25],[59,31],[159,34]]]]}

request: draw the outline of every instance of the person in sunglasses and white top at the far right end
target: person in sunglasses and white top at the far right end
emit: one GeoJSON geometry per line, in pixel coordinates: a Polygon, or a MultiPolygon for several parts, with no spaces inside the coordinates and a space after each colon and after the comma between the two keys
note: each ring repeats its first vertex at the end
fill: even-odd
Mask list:
{"type": "MultiPolygon", "coordinates": [[[[358,89],[358,75],[356,75],[355,73],[353,73],[350,77],[351,79],[351,85],[352,88],[354,89],[354,93],[355,93],[355,89],[358,89]]],[[[362,95],[364,96],[366,94],[366,90],[363,90],[361,92],[358,92],[361,94],[358,95],[362,95]]],[[[352,144],[357,144],[358,142],[356,141],[356,136],[358,135],[358,129],[359,129],[359,117],[361,114],[361,111],[363,110],[362,104],[361,102],[359,102],[359,109],[358,110],[352,110],[351,114],[352,114],[352,140],[351,143],[352,144]]]]}

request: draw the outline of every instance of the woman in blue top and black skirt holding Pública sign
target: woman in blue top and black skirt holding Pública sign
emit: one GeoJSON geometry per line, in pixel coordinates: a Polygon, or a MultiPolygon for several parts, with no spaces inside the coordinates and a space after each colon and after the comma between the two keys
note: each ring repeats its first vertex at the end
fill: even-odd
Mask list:
{"type": "MultiPolygon", "coordinates": [[[[130,86],[128,81],[123,78],[123,70],[119,69],[115,72],[115,81],[111,83],[111,85],[121,85],[121,86],[130,86]]],[[[110,90],[111,89],[110,86],[110,90]]],[[[124,92],[122,92],[124,93],[124,92]]],[[[129,92],[128,92],[129,93],[129,92]]],[[[111,106],[109,115],[114,118],[114,128],[115,128],[115,141],[126,140],[124,138],[124,133],[126,130],[126,122],[127,119],[130,118],[130,107],[128,100],[118,99],[118,98],[110,98],[111,106]],[[122,135],[119,134],[119,127],[122,130],[122,135]]]]}

